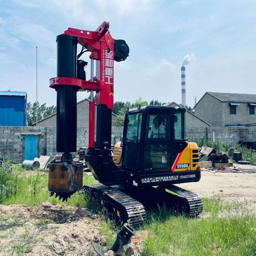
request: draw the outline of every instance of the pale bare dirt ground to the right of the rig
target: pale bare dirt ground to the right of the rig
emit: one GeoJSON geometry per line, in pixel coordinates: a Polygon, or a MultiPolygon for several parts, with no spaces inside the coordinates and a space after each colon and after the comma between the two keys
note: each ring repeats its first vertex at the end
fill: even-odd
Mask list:
{"type": "MultiPolygon", "coordinates": [[[[238,169],[249,169],[244,166],[236,165],[238,169]]],[[[250,165],[250,169],[256,169],[250,165]]],[[[256,206],[256,173],[211,173],[201,172],[201,180],[194,183],[183,183],[179,185],[194,191],[201,197],[220,196],[227,201],[248,201],[251,206],[256,206]],[[222,191],[221,191],[222,190],[222,191]]],[[[256,207],[254,207],[256,208],[256,207]]]]}

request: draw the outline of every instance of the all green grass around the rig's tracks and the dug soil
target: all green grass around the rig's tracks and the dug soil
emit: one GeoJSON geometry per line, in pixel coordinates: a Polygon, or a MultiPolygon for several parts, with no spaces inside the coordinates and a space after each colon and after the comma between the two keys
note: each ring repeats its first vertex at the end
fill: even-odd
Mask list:
{"type": "MultiPolygon", "coordinates": [[[[47,173],[39,175],[40,172],[35,172],[36,175],[26,177],[26,172],[20,166],[14,167],[13,172],[0,170],[2,204],[33,206],[50,202],[89,207],[93,212],[99,213],[99,232],[105,235],[107,248],[111,247],[120,227],[112,220],[107,220],[102,211],[99,212],[99,207],[88,201],[88,196],[76,193],[68,202],[62,203],[49,197],[47,173]]],[[[84,174],[84,184],[91,183],[95,183],[93,177],[84,174]]],[[[248,210],[246,203],[228,203],[220,198],[203,198],[202,201],[204,212],[196,219],[177,215],[165,207],[147,211],[146,224],[138,228],[150,231],[150,235],[142,243],[141,256],[256,255],[256,216],[248,210]]],[[[41,226],[47,223],[49,220],[38,220],[36,224],[41,226]]],[[[10,225],[7,228],[14,227],[10,225]]],[[[33,234],[25,233],[24,237],[14,244],[14,254],[24,255],[35,242],[33,234]]]]}

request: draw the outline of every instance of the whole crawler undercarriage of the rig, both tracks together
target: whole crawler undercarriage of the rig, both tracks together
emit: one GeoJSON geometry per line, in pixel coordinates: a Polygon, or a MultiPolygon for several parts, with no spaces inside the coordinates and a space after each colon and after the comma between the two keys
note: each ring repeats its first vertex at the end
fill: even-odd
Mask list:
{"type": "Polygon", "coordinates": [[[145,223],[146,212],[143,204],[146,206],[149,203],[151,205],[166,204],[176,208],[178,212],[185,213],[189,218],[194,218],[203,212],[203,202],[196,193],[175,185],[144,188],[144,193],[140,193],[142,191],[131,193],[131,190],[122,186],[106,186],[100,183],[85,185],[83,190],[90,192],[93,201],[106,207],[117,223],[121,220],[129,222],[131,226],[145,223]]]}

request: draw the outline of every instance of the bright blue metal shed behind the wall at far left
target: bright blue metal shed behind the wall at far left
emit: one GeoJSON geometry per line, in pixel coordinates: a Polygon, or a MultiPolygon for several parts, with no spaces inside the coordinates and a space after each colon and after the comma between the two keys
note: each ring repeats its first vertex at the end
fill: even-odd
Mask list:
{"type": "Polygon", "coordinates": [[[26,126],[27,92],[0,91],[0,126],[26,126]]]}

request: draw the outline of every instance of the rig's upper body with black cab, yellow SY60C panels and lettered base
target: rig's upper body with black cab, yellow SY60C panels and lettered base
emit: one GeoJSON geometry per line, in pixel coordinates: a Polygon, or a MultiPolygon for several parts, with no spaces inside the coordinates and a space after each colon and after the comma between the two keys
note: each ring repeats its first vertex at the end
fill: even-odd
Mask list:
{"type": "Polygon", "coordinates": [[[198,159],[196,143],[186,137],[186,108],[150,105],[126,111],[123,140],[114,148],[113,161],[132,177],[140,176],[141,186],[198,181],[198,159]]]}

